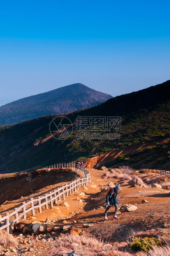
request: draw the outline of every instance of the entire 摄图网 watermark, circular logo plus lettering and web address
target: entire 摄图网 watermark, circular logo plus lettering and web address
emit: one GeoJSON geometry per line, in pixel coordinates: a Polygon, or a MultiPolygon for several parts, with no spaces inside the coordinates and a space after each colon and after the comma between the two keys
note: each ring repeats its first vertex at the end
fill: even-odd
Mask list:
{"type": "Polygon", "coordinates": [[[66,140],[73,130],[79,131],[76,135],[80,139],[120,139],[120,116],[78,116],[76,123],[72,123],[65,116],[57,116],[50,123],[50,133],[57,140],[66,140]],[[74,129],[73,129],[74,127],[74,129]],[[114,133],[112,133],[114,131],[114,133]]]}

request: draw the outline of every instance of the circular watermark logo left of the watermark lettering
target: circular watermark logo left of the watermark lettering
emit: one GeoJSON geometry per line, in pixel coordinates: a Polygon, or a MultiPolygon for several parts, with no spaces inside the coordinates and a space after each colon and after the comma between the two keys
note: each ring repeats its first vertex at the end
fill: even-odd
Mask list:
{"type": "Polygon", "coordinates": [[[56,140],[66,140],[73,131],[73,124],[66,116],[57,116],[51,121],[49,130],[56,140]]]}

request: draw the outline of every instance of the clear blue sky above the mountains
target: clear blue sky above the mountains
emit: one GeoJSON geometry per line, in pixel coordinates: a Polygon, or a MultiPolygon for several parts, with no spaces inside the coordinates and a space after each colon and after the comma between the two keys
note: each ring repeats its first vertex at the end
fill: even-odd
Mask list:
{"type": "Polygon", "coordinates": [[[112,96],[170,79],[170,1],[0,1],[0,105],[72,83],[112,96]]]}

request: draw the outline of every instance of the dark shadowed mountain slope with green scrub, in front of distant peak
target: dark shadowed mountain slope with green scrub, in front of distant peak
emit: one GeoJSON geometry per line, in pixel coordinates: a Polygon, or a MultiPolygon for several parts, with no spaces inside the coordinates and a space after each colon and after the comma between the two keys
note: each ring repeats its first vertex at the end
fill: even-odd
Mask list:
{"type": "Polygon", "coordinates": [[[164,136],[169,135],[170,127],[169,88],[170,81],[167,81],[66,115],[72,123],[75,123],[77,116],[121,116],[121,131],[98,131],[100,135],[119,133],[120,139],[78,140],[76,136],[79,130],[75,130],[74,126],[70,137],[56,140],[49,131],[49,124],[55,115],[0,127],[0,173],[31,171],[52,163],[85,160],[139,143],[145,145],[145,148],[138,150],[139,153],[123,150],[121,157],[111,164],[170,168],[170,141],[167,137],[163,140],[164,136]],[[146,142],[151,142],[151,145],[146,142]]]}

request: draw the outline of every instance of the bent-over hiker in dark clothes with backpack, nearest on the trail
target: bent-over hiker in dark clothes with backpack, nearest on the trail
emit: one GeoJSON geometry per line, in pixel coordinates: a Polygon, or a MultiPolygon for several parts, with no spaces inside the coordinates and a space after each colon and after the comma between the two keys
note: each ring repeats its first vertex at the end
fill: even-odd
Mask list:
{"type": "Polygon", "coordinates": [[[113,215],[113,220],[117,220],[119,217],[116,216],[118,212],[118,199],[117,199],[117,194],[120,190],[120,184],[116,183],[115,187],[112,187],[108,194],[106,195],[106,210],[104,212],[104,220],[108,220],[107,218],[107,213],[111,207],[111,205],[115,206],[115,211],[113,215]]]}

